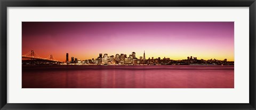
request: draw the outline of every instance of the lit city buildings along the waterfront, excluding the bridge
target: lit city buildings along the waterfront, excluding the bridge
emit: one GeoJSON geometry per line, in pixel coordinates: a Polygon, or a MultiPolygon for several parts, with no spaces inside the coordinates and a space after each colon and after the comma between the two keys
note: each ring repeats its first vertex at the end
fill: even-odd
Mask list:
{"type": "Polygon", "coordinates": [[[227,59],[221,60],[198,60],[197,57],[188,56],[185,60],[171,60],[170,58],[146,58],[144,51],[143,58],[140,56],[136,57],[135,52],[127,57],[126,54],[116,54],[108,56],[108,54],[99,54],[97,58],[89,60],[77,60],[72,56],[71,61],[68,61],[68,53],[66,54],[66,62],[61,63],[62,65],[234,65],[234,62],[227,61],[227,59]]]}

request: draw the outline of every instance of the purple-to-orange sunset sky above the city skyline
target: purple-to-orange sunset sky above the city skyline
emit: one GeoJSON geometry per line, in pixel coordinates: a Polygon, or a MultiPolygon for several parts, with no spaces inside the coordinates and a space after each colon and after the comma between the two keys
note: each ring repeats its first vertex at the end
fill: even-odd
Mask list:
{"type": "Polygon", "coordinates": [[[34,50],[66,61],[136,53],[234,61],[234,22],[22,22],[22,55],[34,50]]]}

